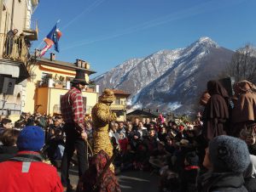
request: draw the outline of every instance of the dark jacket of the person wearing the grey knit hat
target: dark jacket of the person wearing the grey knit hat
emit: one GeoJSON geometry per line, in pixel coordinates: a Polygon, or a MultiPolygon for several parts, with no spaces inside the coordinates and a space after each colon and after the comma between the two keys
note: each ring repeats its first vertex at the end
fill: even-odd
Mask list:
{"type": "Polygon", "coordinates": [[[201,192],[247,192],[244,178],[234,172],[212,172],[210,177],[201,181],[201,192]]]}

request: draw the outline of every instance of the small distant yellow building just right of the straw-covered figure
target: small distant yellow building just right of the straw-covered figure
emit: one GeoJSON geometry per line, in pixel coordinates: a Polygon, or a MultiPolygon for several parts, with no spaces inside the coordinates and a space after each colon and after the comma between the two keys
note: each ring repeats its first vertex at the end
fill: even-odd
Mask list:
{"type": "Polygon", "coordinates": [[[125,93],[122,90],[112,89],[114,96],[116,97],[113,104],[110,105],[110,109],[116,113],[117,121],[125,121],[126,119],[126,101],[131,95],[130,93],[125,93]]]}

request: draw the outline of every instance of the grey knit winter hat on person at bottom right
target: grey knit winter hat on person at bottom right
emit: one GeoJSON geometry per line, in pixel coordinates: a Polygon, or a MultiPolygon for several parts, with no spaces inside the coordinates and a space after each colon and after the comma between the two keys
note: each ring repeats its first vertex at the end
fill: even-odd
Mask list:
{"type": "Polygon", "coordinates": [[[227,135],[213,138],[209,144],[209,155],[215,172],[244,172],[250,155],[247,144],[227,135]]]}

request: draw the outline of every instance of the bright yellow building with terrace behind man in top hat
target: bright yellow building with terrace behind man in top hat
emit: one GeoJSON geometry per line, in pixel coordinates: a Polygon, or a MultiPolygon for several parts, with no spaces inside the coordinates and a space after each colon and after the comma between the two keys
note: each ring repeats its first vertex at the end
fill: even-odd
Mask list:
{"type": "MultiPolygon", "coordinates": [[[[55,60],[55,54],[50,59],[36,59],[31,67],[31,78],[26,84],[26,102],[24,111],[39,112],[41,114],[60,114],[61,95],[70,89],[70,82],[77,69],[85,72],[85,79],[95,71],[90,70],[90,65],[80,59],[75,64],[55,60]]],[[[98,87],[89,85],[83,90],[84,110],[90,115],[91,108],[96,104],[98,87]]]]}

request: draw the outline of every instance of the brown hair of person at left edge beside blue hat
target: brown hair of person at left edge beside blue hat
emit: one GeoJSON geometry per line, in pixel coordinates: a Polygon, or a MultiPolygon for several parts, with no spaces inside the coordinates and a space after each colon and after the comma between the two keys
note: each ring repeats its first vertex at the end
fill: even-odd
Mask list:
{"type": "Polygon", "coordinates": [[[1,141],[4,146],[14,146],[17,142],[17,138],[20,131],[16,129],[6,129],[3,131],[1,141]]]}

